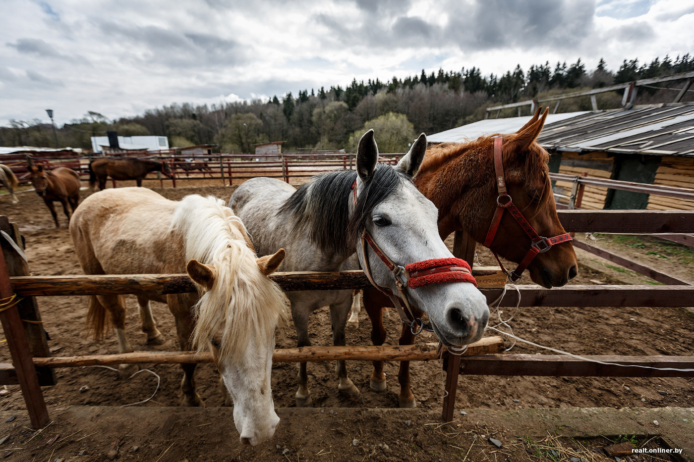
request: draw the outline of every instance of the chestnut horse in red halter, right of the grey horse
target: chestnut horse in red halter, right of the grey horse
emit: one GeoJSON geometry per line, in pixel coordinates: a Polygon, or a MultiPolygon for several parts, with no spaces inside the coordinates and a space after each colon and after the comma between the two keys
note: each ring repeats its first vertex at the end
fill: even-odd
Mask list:
{"type": "MultiPolygon", "coordinates": [[[[549,178],[549,154],[536,139],[542,130],[547,111],[534,117],[518,132],[503,136],[502,160],[508,195],[527,221],[541,236],[564,234],[559,223],[549,178]]],[[[414,178],[416,187],[439,209],[439,234],[446,239],[451,232],[464,230],[484,243],[497,209],[498,179],[494,166],[494,138],[498,135],[430,148],[414,178]]],[[[532,246],[530,237],[509,212],[501,216],[491,250],[512,262],[520,263],[532,246]]],[[[577,274],[576,254],[569,242],[551,246],[538,253],[527,266],[531,279],[550,289],[563,286],[577,274]]],[[[377,290],[364,291],[364,308],[371,318],[371,340],[382,345],[387,332],[383,327],[382,307],[390,300],[377,290]]],[[[411,345],[414,334],[403,325],[400,345],[411,345]]],[[[371,389],[386,389],[382,361],[374,361],[371,389]]],[[[410,390],[409,362],[400,362],[400,407],[415,407],[410,390]]]]}

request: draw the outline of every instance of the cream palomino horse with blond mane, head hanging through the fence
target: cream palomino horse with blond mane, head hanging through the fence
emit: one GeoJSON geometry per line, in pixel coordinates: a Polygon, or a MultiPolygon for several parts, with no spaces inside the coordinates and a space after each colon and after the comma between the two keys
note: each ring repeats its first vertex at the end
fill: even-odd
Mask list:
{"type": "MultiPolygon", "coordinates": [[[[281,289],[267,276],[285,251],[257,259],[244,225],[221,199],[187,196],[174,202],[135,187],[92,194],[74,215],[70,233],[85,274],[187,271],[199,296],[135,294],[148,343],[162,343],[150,300],[167,303],[176,318],[180,348],[212,350],[235,402],[234,422],[242,443],[257,445],[273,436],[280,419],[274,410],[270,370],[275,327],[286,309],[281,289]]],[[[119,352],[132,352],[125,335],[123,298],[92,296],[87,322],[97,337],[103,336],[107,311],[119,352]]],[[[185,406],[203,404],[195,391],[195,366],[181,364],[185,406]]],[[[120,368],[123,374],[131,372],[127,365],[120,368]]]]}

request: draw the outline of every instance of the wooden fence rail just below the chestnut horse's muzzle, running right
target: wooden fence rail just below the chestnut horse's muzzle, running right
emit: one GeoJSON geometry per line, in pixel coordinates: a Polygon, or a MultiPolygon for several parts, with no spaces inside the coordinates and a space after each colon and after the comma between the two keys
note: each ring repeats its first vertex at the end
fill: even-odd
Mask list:
{"type": "MultiPolygon", "coordinates": [[[[694,286],[583,285],[555,287],[521,285],[521,307],[691,307],[694,286]]],[[[482,289],[487,302],[496,300],[501,289],[482,289]]],[[[515,307],[515,291],[508,291],[502,307],[515,307]]]]}

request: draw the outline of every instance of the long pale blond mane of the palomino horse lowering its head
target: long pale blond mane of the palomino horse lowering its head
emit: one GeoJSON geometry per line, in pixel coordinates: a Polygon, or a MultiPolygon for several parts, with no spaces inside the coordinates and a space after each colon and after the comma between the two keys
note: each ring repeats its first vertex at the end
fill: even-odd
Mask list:
{"type": "Polygon", "coordinates": [[[194,306],[192,343],[198,351],[209,348],[212,334],[223,326],[221,356],[242,354],[287,318],[282,290],[260,273],[236,224],[243,227],[223,200],[198,195],[183,198],[171,221],[171,230],[183,236],[186,261],[194,258],[217,270],[212,289],[194,306]]]}

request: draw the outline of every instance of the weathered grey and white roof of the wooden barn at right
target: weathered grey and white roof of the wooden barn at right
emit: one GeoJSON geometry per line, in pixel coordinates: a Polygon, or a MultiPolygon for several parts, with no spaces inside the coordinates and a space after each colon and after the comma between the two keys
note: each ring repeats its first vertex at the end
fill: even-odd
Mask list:
{"type": "MultiPolygon", "coordinates": [[[[459,142],[491,133],[511,133],[529,119],[487,119],[431,135],[428,139],[435,143],[459,142]],[[457,130],[457,139],[446,135],[454,130],[457,130]]],[[[552,151],[694,157],[694,103],[549,114],[538,141],[552,151]],[[563,117],[557,120],[552,116],[563,117]]]]}

